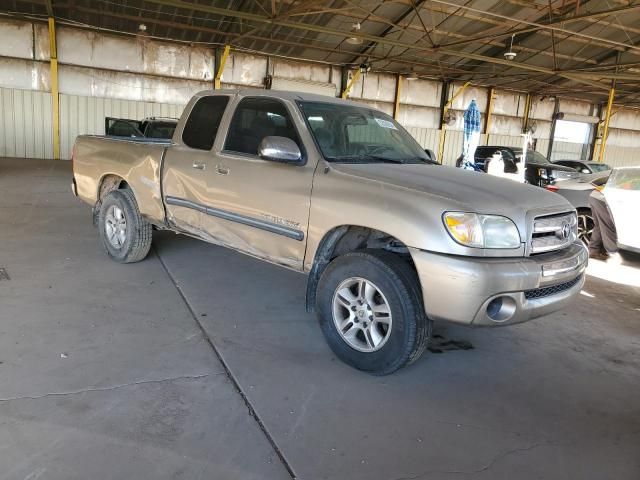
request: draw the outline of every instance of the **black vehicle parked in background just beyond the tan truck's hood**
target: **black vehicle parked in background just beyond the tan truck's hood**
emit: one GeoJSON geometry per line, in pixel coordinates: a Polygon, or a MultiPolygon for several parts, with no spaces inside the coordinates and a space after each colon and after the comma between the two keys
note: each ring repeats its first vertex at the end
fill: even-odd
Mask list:
{"type": "MultiPolygon", "coordinates": [[[[522,148],[505,146],[480,146],[476,149],[474,160],[476,165],[484,172],[488,171],[489,162],[494,155],[501,155],[504,161],[505,173],[516,173],[517,164],[522,161],[522,148]]],[[[456,161],[456,167],[462,165],[462,156],[456,161]]],[[[525,182],[531,185],[544,187],[552,185],[556,180],[578,178],[580,174],[573,168],[556,165],[547,160],[547,157],[535,150],[527,150],[525,163],[525,182]]]]}

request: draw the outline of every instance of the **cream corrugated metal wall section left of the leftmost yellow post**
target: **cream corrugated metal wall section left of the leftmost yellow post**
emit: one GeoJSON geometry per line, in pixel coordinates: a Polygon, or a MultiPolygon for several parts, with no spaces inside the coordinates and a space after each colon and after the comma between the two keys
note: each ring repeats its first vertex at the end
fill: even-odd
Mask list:
{"type": "Polygon", "coordinates": [[[50,93],[0,88],[0,156],[53,157],[50,93]]]}

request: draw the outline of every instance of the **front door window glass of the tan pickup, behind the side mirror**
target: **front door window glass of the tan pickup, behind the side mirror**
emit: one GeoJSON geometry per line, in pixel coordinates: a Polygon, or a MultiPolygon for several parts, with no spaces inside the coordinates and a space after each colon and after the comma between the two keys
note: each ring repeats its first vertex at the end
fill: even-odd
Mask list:
{"type": "Polygon", "coordinates": [[[302,150],[284,104],[268,98],[245,98],[233,115],[224,149],[257,155],[262,139],[270,136],[290,138],[302,150]]]}

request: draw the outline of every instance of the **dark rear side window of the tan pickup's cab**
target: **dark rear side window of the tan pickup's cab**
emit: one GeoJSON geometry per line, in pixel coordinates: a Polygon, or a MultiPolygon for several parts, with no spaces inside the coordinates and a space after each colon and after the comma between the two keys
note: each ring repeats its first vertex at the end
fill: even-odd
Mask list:
{"type": "Polygon", "coordinates": [[[218,95],[198,100],[182,132],[184,144],[198,150],[211,150],[227,103],[229,97],[218,95]]]}

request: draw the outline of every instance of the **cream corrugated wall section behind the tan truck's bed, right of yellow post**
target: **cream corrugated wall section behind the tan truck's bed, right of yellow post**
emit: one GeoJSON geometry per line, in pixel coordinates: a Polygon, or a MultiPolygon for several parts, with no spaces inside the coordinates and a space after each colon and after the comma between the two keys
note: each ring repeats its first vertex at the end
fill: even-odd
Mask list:
{"type": "Polygon", "coordinates": [[[105,117],[179,118],[184,105],[137,102],[114,98],[81,97],[60,95],[60,157],[71,158],[73,143],[78,135],[104,135],[105,117]]]}

